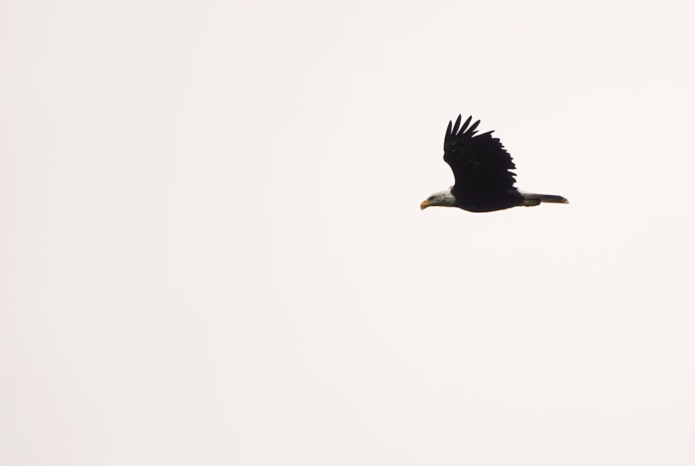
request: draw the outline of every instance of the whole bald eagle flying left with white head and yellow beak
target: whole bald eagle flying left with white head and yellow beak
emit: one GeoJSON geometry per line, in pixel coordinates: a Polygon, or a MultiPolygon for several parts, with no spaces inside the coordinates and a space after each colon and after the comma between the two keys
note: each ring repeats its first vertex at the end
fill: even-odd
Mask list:
{"type": "Polygon", "coordinates": [[[475,136],[480,120],[469,128],[471,119],[468,117],[460,126],[459,115],[453,127],[449,121],[444,135],[444,161],[454,172],[454,186],[432,194],[420,204],[420,209],[442,206],[491,212],[541,202],[568,203],[559,195],[524,193],[514,187],[516,174],[509,171],[516,168],[512,156],[498,138],[492,137],[493,131],[475,136]]]}

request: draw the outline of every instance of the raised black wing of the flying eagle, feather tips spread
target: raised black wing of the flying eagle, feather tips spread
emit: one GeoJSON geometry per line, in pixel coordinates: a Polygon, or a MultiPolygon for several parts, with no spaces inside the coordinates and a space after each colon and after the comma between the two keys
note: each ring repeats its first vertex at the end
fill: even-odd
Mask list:
{"type": "Polygon", "coordinates": [[[449,164],[456,182],[453,193],[457,197],[478,198],[508,195],[516,192],[516,176],[510,172],[514,166],[512,156],[505,150],[493,131],[475,135],[480,120],[473,123],[468,117],[463,126],[461,115],[456,123],[449,122],[444,136],[444,161],[449,164]]]}

